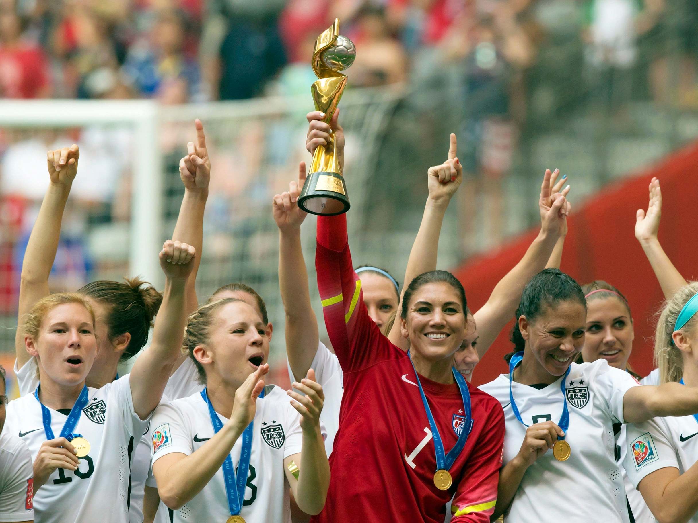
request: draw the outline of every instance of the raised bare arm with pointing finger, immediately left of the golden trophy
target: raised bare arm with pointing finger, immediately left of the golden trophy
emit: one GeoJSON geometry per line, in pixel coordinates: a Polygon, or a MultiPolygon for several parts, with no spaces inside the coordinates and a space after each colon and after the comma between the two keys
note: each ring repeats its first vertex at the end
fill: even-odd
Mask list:
{"type": "Polygon", "coordinates": [[[279,227],[279,289],[286,315],[286,354],[294,376],[305,376],[318,351],[318,319],[310,301],[308,271],[301,247],[301,224],[306,213],[298,195],[306,179],[306,166],[298,167],[298,182],[288,192],[274,196],[272,211],[279,227]]]}

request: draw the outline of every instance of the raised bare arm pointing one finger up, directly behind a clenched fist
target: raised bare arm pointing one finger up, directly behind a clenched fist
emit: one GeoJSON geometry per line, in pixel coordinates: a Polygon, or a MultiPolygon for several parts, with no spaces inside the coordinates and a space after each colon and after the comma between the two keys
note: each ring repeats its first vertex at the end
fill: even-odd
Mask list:
{"type": "Polygon", "coordinates": [[[201,253],[204,236],[204,210],[209,197],[209,181],[211,181],[211,160],[206,148],[204,126],[199,119],[194,121],[196,128],[196,144],[186,144],[187,154],[179,160],[179,177],[184,183],[184,198],[179,207],[177,224],[172,233],[173,241],[191,245],[196,257],[193,260],[191,276],[186,282],[186,312],[191,314],[198,306],[196,296],[196,274],[201,263],[201,253]]]}

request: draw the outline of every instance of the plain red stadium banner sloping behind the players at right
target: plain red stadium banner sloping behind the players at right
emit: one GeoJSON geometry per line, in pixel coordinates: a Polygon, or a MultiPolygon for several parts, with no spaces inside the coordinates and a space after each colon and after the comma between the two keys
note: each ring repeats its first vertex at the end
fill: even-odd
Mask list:
{"type": "MultiPolygon", "coordinates": [[[[637,176],[607,185],[580,204],[573,202],[562,266],[580,284],[606,280],[625,294],[634,319],[635,338],[630,364],[641,376],[653,368],[655,318],[662,290],[639,242],[634,236],[635,213],[647,209],[648,185],[660,180],[664,204],[660,242],[687,280],[698,274],[698,143],[674,153],[637,176]]],[[[574,188],[574,172],[570,173],[574,188]]],[[[454,271],[463,282],[471,310],[477,310],[494,286],[526,252],[537,229],[519,236],[496,252],[471,259],[454,271]]],[[[512,317],[513,319],[513,317],[512,317]]],[[[509,333],[513,321],[499,335],[487,356],[473,372],[480,385],[507,372],[503,356],[512,350],[509,333]]]]}

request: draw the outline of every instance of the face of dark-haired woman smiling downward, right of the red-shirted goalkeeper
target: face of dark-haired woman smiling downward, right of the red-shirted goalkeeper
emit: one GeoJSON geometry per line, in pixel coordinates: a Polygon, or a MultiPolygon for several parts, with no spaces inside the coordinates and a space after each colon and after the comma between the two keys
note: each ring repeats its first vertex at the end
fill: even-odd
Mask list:
{"type": "Polygon", "coordinates": [[[519,317],[519,330],[536,361],[552,376],[562,376],[584,347],[586,308],[578,301],[544,306],[540,316],[519,317]]]}

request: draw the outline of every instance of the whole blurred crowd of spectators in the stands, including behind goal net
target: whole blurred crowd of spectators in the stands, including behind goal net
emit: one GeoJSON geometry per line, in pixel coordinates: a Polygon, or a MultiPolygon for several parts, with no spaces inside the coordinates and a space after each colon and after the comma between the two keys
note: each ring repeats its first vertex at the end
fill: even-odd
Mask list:
{"type": "MultiPolygon", "coordinates": [[[[476,223],[467,213],[476,212],[473,198],[484,192],[493,221],[484,246],[503,236],[501,180],[533,126],[549,128],[584,101],[603,114],[616,114],[628,100],[698,106],[695,0],[0,0],[0,98],[181,104],[298,95],[310,105],[313,43],[334,17],[358,50],[349,90],[390,85],[403,93],[376,169],[399,159],[421,172],[441,153],[435,137],[456,130],[466,169],[461,223],[476,223]]],[[[245,163],[236,155],[256,153],[239,168],[253,172],[269,161],[287,169],[297,158],[282,144],[298,140],[288,125],[278,127],[264,123],[239,138],[216,167],[227,163],[221,170],[230,172],[245,163]],[[252,143],[255,136],[260,143],[252,143]],[[261,136],[281,148],[278,159],[262,158],[261,136]]],[[[79,142],[82,169],[91,173],[75,190],[80,202],[64,218],[54,267],[59,288],[76,288],[94,271],[89,252],[111,260],[128,236],[131,176],[124,175],[133,172],[132,139],[127,128],[104,126],[0,128],[0,316],[14,314],[17,268],[45,188],[45,151],[79,142]],[[22,176],[11,176],[18,165],[22,176]],[[108,232],[86,238],[87,229],[106,223],[108,232]]],[[[172,148],[163,146],[165,172],[176,171],[181,156],[172,148]]],[[[530,167],[537,165],[522,170],[530,167]]],[[[395,202],[414,196],[414,184],[403,178],[390,181],[395,202]]],[[[230,219],[228,189],[221,223],[230,219]]],[[[396,203],[386,203],[382,190],[372,193],[366,212],[385,211],[387,229],[409,222],[391,213],[396,203]]],[[[178,201],[179,193],[171,196],[178,201]]],[[[254,229],[239,220],[245,231],[254,229]]],[[[101,263],[107,278],[124,271],[123,263],[113,273],[101,263]]]]}

